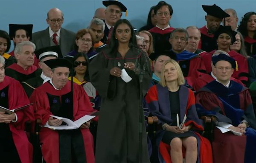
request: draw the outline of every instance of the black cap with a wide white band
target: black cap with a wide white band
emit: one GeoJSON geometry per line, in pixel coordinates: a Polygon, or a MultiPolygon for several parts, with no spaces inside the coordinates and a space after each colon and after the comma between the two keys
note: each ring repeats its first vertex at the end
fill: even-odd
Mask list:
{"type": "Polygon", "coordinates": [[[41,61],[41,59],[47,56],[54,56],[56,58],[63,58],[61,53],[61,48],[59,45],[57,46],[49,46],[45,48],[41,48],[35,51],[36,57],[41,61]]]}

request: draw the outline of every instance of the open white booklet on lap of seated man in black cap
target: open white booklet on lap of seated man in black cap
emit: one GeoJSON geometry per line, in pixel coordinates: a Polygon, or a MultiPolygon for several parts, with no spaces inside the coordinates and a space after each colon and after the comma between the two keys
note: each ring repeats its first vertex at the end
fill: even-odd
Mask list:
{"type": "Polygon", "coordinates": [[[62,120],[67,125],[61,125],[61,126],[50,126],[48,124],[44,125],[44,127],[48,127],[50,129],[78,129],[82,124],[84,124],[87,121],[90,121],[95,117],[95,115],[84,115],[83,117],[79,118],[76,121],[71,121],[68,118],[58,117],[55,115],[50,115],[53,118],[57,118],[59,120],[62,120]]]}

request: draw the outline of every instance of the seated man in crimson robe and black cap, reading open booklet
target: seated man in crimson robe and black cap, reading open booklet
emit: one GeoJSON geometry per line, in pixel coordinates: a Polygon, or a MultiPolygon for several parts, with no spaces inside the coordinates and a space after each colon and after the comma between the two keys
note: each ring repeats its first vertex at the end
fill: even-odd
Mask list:
{"type": "MultiPolygon", "coordinates": [[[[35,104],[35,118],[41,120],[41,125],[60,126],[63,123],[50,115],[76,121],[92,112],[92,105],[83,88],[73,83],[71,91],[68,80],[71,63],[62,58],[44,62],[51,68],[52,79],[36,88],[29,98],[35,104]]],[[[47,163],[94,163],[93,136],[89,126],[90,122],[72,130],[41,128],[39,139],[44,160],[47,163]]]]}

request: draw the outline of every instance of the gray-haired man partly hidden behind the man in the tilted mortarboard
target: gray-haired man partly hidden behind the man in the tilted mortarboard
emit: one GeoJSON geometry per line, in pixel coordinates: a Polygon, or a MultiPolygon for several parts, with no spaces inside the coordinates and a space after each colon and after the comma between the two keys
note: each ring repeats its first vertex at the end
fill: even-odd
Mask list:
{"type": "Polygon", "coordinates": [[[230,25],[232,28],[232,31],[237,31],[237,23],[238,23],[238,17],[236,14],[236,10],[233,8],[227,8],[224,10],[227,14],[230,15],[230,17],[226,17],[222,20],[222,24],[225,26],[230,25]]]}

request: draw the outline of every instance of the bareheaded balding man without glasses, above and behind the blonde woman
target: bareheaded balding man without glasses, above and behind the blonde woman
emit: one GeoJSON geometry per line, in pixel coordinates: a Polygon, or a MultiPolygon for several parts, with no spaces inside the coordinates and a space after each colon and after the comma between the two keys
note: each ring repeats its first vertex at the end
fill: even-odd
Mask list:
{"type": "Polygon", "coordinates": [[[200,54],[204,52],[203,50],[198,49],[198,45],[201,40],[201,32],[199,28],[197,28],[196,26],[189,26],[186,28],[186,31],[189,34],[189,39],[185,50],[195,54],[200,54]]]}

